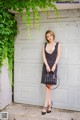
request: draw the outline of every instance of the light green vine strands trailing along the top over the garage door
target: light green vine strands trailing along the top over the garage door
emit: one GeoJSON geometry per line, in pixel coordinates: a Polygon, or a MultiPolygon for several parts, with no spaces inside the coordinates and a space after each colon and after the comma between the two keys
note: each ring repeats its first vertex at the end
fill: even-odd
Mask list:
{"type": "Polygon", "coordinates": [[[56,2],[56,0],[1,0],[0,6],[21,13],[23,21],[26,23],[28,29],[31,24],[31,11],[33,12],[36,26],[39,25],[39,10],[47,11],[48,8],[54,9],[54,12],[58,16],[58,10],[54,2],[56,2]],[[25,16],[23,11],[26,13],[25,16]]]}

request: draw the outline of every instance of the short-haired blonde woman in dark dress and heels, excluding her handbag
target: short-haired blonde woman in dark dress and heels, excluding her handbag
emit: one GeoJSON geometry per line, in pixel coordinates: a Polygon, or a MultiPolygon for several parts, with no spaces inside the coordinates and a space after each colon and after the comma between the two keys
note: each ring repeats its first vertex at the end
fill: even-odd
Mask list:
{"type": "MultiPolygon", "coordinates": [[[[41,83],[43,84],[45,84],[44,79],[46,72],[55,72],[57,75],[57,64],[60,58],[60,43],[55,41],[54,32],[51,30],[46,31],[45,38],[47,43],[45,43],[42,50],[43,70],[41,83]]],[[[51,87],[52,85],[46,86],[45,104],[42,109],[42,115],[50,113],[52,109],[51,87]]]]}

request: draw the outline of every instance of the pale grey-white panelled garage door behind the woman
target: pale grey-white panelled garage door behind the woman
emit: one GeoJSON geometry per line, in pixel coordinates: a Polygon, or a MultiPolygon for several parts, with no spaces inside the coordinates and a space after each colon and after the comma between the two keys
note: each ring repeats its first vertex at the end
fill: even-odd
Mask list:
{"type": "MultiPolygon", "coordinates": [[[[31,26],[30,36],[26,25],[18,18],[19,33],[15,41],[14,99],[15,102],[43,105],[45,87],[41,82],[42,46],[45,32],[51,29],[61,43],[58,64],[60,86],[52,91],[55,108],[80,110],[80,13],[79,10],[40,12],[40,30],[31,26]]],[[[32,18],[33,19],[33,18],[32,18]]]]}

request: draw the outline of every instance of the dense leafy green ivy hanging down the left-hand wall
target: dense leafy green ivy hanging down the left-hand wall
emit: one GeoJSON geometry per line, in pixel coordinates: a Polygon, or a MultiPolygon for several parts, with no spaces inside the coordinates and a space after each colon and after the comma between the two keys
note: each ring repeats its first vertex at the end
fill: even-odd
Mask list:
{"type": "Polygon", "coordinates": [[[14,38],[17,34],[17,22],[14,14],[7,9],[0,9],[0,70],[5,60],[8,59],[8,68],[12,76],[14,38]]]}

